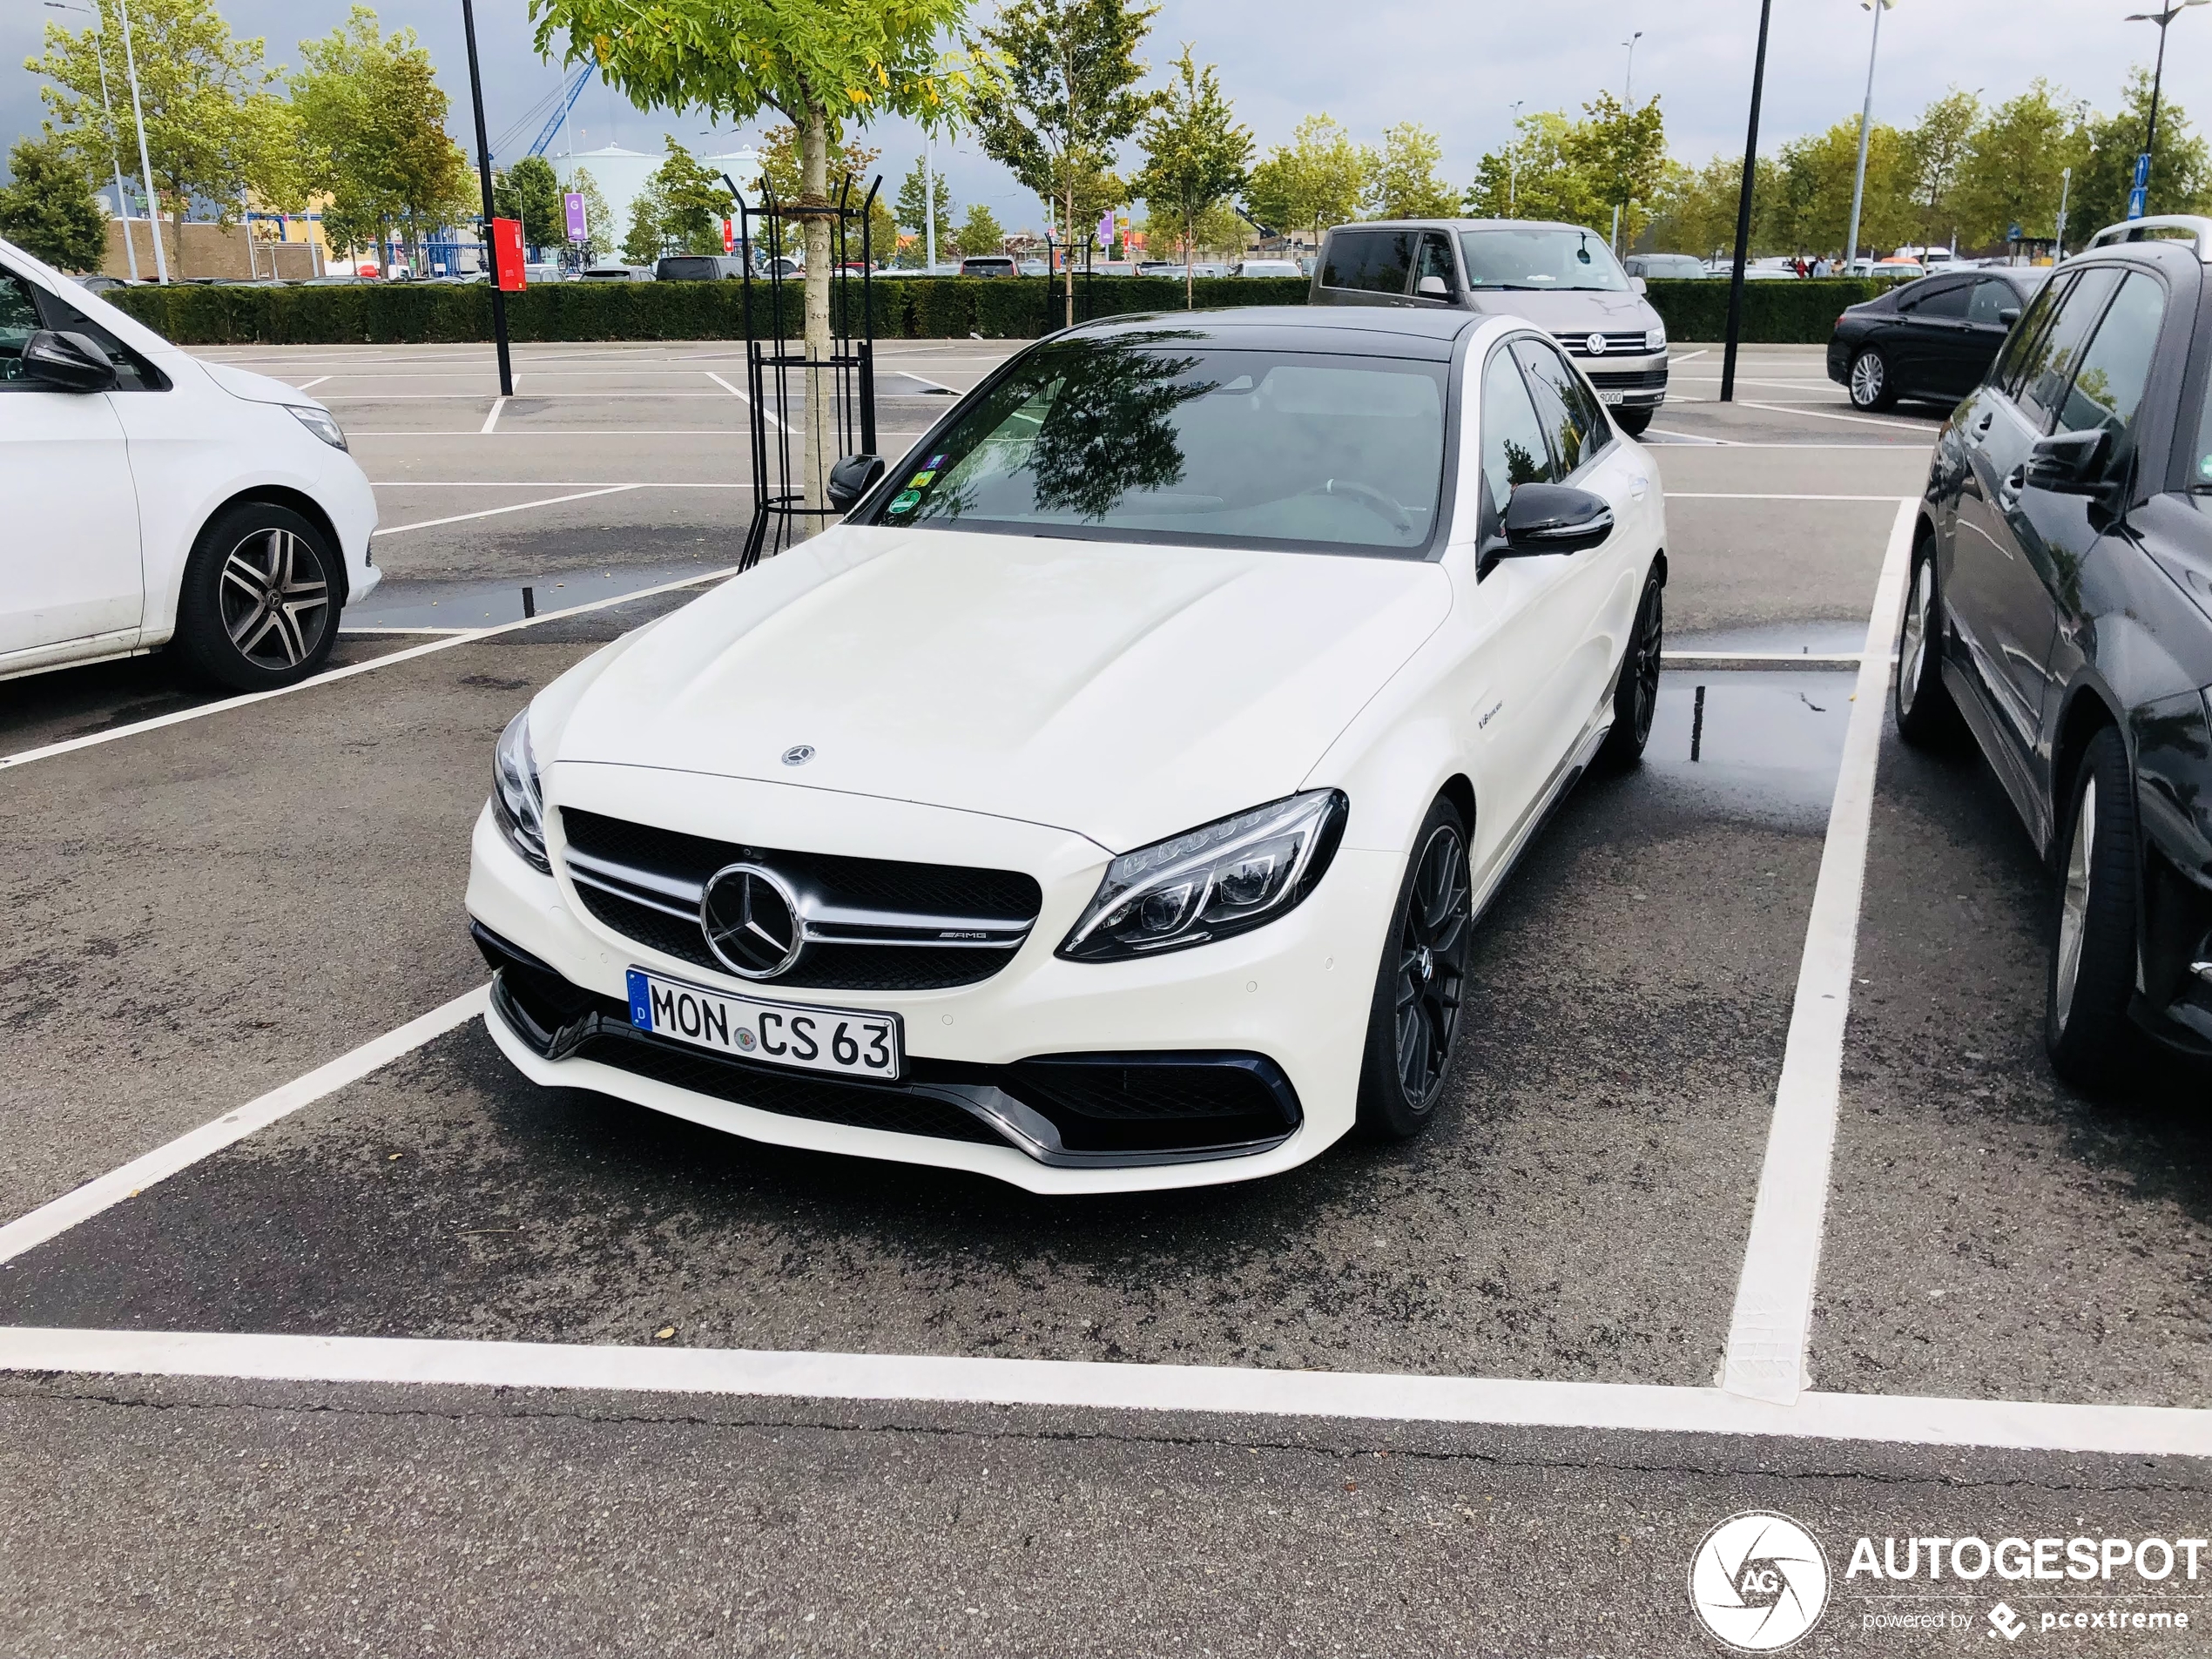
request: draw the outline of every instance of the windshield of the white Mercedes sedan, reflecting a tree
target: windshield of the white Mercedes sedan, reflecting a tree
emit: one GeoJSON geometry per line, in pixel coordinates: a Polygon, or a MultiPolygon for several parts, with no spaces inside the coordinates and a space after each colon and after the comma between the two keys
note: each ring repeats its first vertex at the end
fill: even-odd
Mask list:
{"type": "Polygon", "coordinates": [[[1245,352],[1179,330],[1020,358],[878,524],[1420,553],[1444,473],[1444,363],[1245,352]]]}

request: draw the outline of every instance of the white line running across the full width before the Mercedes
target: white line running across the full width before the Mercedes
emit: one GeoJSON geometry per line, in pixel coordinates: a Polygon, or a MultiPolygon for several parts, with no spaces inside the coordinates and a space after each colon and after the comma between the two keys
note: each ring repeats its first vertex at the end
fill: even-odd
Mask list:
{"type": "Polygon", "coordinates": [[[482,1343],[416,1336],[243,1336],[0,1327],[0,1369],[265,1383],[414,1383],[615,1389],[779,1400],[1026,1405],[1095,1411],[1455,1422],[1526,1429],[1719,1433],[2108,1455],[2212,1455],[2212,1411],[1889,1394],[1796,1405],[1661,1383],[1265,1371],[1228,1365],[995,1360],[714,1347],[482,1343]]]}

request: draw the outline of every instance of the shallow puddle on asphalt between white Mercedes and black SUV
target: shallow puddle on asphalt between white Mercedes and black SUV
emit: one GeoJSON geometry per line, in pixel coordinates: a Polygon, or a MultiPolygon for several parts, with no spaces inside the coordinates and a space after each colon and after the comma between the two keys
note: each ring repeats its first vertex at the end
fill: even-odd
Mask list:
{"type": "Polygon", "coordinates": [[[1836,794],[1856,684],[1856,675],[1798,668],[1668,670],[1644,776],[1723,816],[1818,830],[1836,794]]]}

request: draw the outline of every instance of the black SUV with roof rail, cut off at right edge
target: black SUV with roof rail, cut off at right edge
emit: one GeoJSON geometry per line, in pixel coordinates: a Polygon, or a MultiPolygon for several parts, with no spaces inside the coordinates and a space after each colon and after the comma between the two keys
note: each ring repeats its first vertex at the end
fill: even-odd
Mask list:
{"type": "Polygon", "coordinates": [[[2053,865],[2044,1042],[2212,1055],[2212,219],[2059,265],[1936,445],[1898,644],[1909,743],[1955,719],[2053,865]]]}

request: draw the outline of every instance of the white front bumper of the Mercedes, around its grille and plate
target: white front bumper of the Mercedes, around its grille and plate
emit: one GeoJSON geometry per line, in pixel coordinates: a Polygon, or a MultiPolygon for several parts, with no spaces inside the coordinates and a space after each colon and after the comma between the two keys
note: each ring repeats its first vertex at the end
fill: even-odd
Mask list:
{"type": "MultiPolygon", "coordinates": [[[[633,816],[699,823],[706,807],[710,821],[745,823],[765,845],[807,845],[810,832],[812,845],[825,845],[821,792],[646,776],[644,787],[637,772],[622,785],[633,792],[633,816]],[[637,794],[659,794],[664,810],[637,794]]],[[[1104,849],[1057,830],[907,803],[867,803],[867,818],[878,845],[865,852],[880,856],[889,841],[909,858],[964,858],[1040,880],[1044,909],[1004,969],[938,991],[805,991],[708,973],[604,927],[577,900],[560,849],[562,874],[538,874],[487,810],[471,849],[469,914],[495,936],[487,956],[507,962],[487,1029],[544,1086],[593,1088],[779,1146],[971,1170],[1031,1192],[1245,1181],[1294,1168],[1352,1128],[1400,856],[1340,849],[1298,909],[1252,933],[1139,962],[1064,962],[1053,947],[1097,889],[1104,849]],[[909,1079],[898,1088],[836,1084],[644,1037],[622,1015],[633,964],[739,995],[896,1013],[909,1079]],[[542,991],[571,1000],[533,998],[533,969],[555,975],[542,991]],[[1095,1133],[1055,1135],[1066,1119],[1053,1121],[1051,1066],[1071,1057],[1113,1068],[1243,1068],[1281,1110],[1272,1124],[1248,1115],[1230,1144],[1161,1148],[1135,1133],[1128,1146],[1102,1150],[1095,1133]]],[[[827,849],[863,852],[852,825],[845,845],[827,849]]]]}

